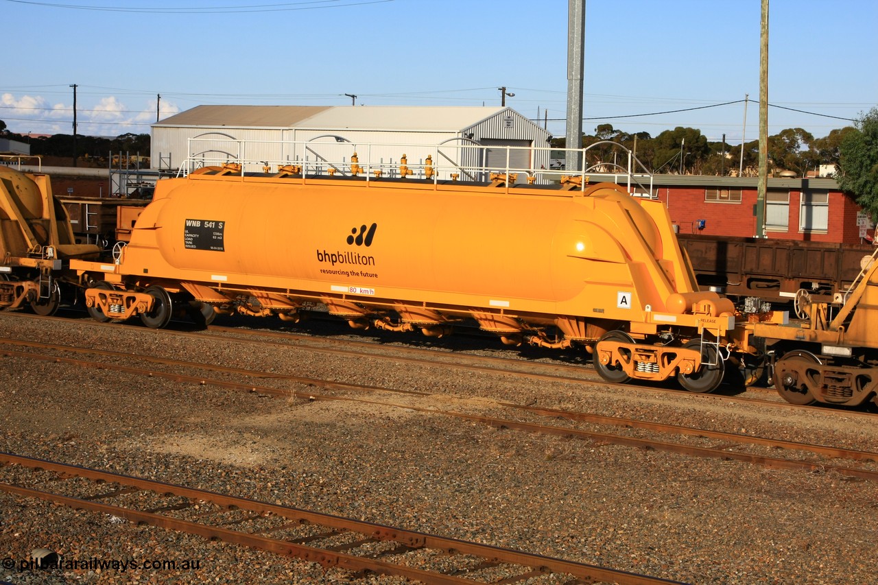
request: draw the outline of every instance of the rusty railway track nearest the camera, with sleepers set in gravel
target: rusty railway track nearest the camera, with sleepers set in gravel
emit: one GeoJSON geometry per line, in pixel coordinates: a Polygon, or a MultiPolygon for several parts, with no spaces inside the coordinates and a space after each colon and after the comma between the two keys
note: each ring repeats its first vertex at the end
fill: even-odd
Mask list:
{"type": "Polygon", "coordinates": [[[12,453],[0,453],[0,464],[0,491],[8,494],[249,546],[324,568],[437,584],[513,583],[543,576],[570,584],[679,582],[12,453]],[[431,566],[438,556],[445,557],[442,570],[431,566]]]}

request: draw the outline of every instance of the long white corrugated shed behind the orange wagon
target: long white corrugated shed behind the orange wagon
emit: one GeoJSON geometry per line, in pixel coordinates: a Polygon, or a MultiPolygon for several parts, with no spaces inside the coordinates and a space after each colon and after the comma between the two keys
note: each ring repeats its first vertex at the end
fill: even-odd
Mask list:
{"type": "Polygon", "coordinates": [[[152,163],[158,169],[176,169],[186,158],[205,153],[229,161],[300,162],[329,158],[327,149],[333,160],[349,160],[356,152],[361,162],[368,157],[398,164],[407,155],[411,164],[433,155],[471,167],[502,169],[512,163],[547,169],[547,149],[531,153],[505,147],[546,148],[551,140],[515,110],[485,106],[201,105],[152,128],[152,163]],[[491,148],[464,148],[473,143],[491,148]],[[443,146],[437,151],[437,145],[443,146]],[[465,160],[475,157],[486,160],[465,160]]]}

